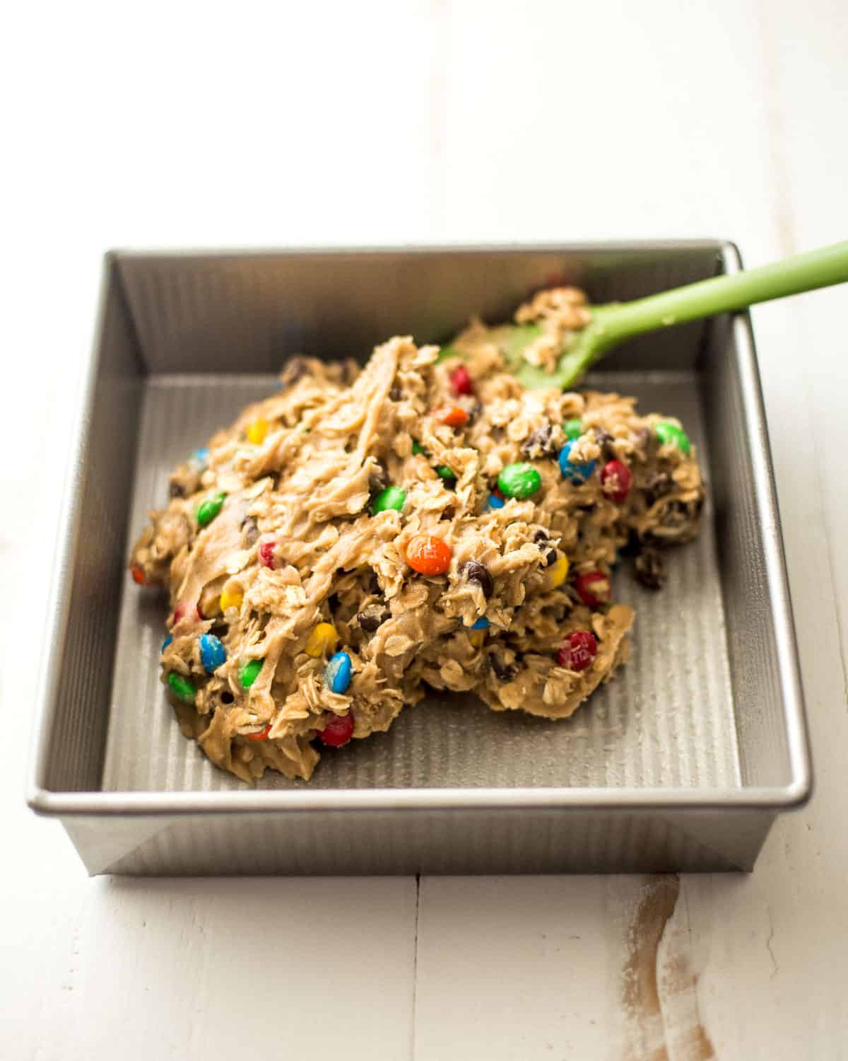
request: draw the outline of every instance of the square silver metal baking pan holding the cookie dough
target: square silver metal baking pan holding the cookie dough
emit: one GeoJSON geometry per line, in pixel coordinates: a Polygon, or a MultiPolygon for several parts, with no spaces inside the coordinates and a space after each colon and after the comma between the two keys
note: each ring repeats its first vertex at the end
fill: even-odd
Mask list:
{"type": "Polygon", "coordinates": [[[617,679],[567,721],[436,699],[249,788],[186,741],[158,681],[166,613],[126,576],[170,468],[287,356],[449,336],[567,280],[628,299],[732,272],[720,241],[107,255],[73,440],[30,805],[91,873],[750,869],[811,772],[750,321],[628,344],[595,382],[678,416],[709,485],[700,540],[637,610],[617,679]]]}

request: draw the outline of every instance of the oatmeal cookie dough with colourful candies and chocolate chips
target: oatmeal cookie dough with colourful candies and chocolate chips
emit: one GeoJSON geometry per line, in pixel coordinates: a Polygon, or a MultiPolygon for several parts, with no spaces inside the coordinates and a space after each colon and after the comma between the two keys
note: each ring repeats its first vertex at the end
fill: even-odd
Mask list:
{"type": "MultiPolygon", "coordinates": [[[[546,296],[520,319],[580,317],[546,296]]],[[[409,337],[361,370],[295,359],[174,471],[131,572],[167,589],[162,679],[217,765],[310,778],[427,686],[567,717],[625,661],[613,568],[650,550],[656,582],[697,534],[695,453],[632,398],[525,390],[501,332],[473,324],[442,363],[409,337]]]]}

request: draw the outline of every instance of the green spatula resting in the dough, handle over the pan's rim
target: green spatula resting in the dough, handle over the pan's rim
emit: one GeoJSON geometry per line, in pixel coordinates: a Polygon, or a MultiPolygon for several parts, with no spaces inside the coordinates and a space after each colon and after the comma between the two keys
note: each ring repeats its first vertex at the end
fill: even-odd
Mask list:
{"type": "MultiPolygon", "coordinates": [[[[848,242],[732,276],[700,280],[633,302],[593,306],[591,321],[571,333],[553,372],[536,368],[523,358],[525,348],[542,335],[540,325],[502,325],[492,330],[492,338],[504,351],[510,370],[526,387],[570,387],[613,347],[635,335],[846,281],[848,242]]],[[[457,353],[453,347],[445,347],[440,360],[457,353]]]]}

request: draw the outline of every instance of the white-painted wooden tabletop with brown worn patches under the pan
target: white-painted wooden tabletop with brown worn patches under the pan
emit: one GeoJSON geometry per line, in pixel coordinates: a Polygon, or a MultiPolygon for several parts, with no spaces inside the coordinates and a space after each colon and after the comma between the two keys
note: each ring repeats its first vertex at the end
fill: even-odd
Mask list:
{"type": "Polygon", "coordinates": [[[848,1057],[845,290],[755,312],[816,789],[752,875],[88,880],[10,740],[104,248],[845,238],[843,0],[11,18],[0,1057],[848,1057]]]}

